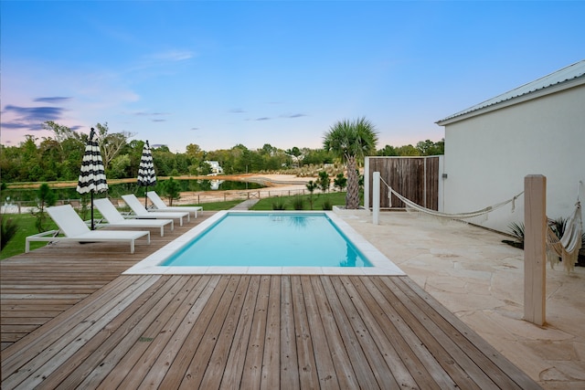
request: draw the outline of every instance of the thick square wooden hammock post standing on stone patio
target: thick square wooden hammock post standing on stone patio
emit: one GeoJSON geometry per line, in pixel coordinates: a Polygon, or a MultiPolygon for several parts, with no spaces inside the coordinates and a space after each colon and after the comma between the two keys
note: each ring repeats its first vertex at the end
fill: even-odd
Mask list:
{"type": "Polygon", "coordinates": [[[524,178],[524,320],[538,326],[546,321],[547,178],[524,178]]]}

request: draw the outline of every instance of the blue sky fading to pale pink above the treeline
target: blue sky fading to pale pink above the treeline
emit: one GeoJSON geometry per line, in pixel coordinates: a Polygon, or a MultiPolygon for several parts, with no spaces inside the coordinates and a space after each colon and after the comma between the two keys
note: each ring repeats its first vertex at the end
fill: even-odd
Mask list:
{"type": "Polygon", "coordinates": [[[365,116],[378,149],[585,58],[585,2],[2,1],[1,138],[43,121],[185,152],[319,148],[365,116]]]}

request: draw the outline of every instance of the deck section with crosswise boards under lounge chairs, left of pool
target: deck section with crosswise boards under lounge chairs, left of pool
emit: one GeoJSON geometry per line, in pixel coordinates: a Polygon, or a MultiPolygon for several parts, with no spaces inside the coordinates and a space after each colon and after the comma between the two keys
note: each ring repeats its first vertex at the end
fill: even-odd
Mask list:
{"type": "Polygon", "coordinates": [[[0,349],[51,320],[116,279],[138,261],[188,229],[207,219],[191,219],[160,237],[150,229],[151,244],[136,242],[135,253],[126,244],[58,243],[0,261],[0,349]]]}

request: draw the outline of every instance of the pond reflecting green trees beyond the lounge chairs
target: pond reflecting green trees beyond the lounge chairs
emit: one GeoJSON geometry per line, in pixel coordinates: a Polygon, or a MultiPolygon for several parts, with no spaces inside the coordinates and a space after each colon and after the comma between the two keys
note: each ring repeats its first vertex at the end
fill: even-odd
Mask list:
{"type": "MultiPolygon", "coordinates": [[[[162,193],[163,183],[165,181],[157,181],[154,187],[142,187],[136,183],[121,183],[109,184],[108,195],[111,197],[120,197],[121,195],[134,194],[136,196],[144,196],[145,191],[156,191],[162,193]]],[[[224,180],[176,180],[179,184],[179,191],[181,192],[200,192],[200,191],[227,191],[227,190],[253,190],[263,188],[264,185],[257,183],[239,182],[239,181],[224,181],[224,180]]],[[[74,187],[71,188],[53,188],[57,195],[57,199],[80,199],[80,195],[74,187]]],[[[4,204],[6,199],[11,202],[27,202],[34,201],[38,197],[37,188],[19,188],[19,189],[5,189],[2,190],[1,202],[4,204]]],[[[101,197],[101,195],[99,195],[101,197]]]]}

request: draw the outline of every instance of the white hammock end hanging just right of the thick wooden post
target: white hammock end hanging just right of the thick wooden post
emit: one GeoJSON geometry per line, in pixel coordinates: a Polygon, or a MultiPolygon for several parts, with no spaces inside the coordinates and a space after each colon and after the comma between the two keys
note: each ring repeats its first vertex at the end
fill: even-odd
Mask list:
{"type": "Polygon", "coordinates": [[[579,198],[575,204],[575,212],[569,217],[565,224],[563,237],[558,238],[550,224],[547,227],[547,258],[550,267],[554,268],[562,259],[563,266],[570,272],[575,268],[579,250],[581,248],[583,225],[581,222],[581,204],[579,198]]]}

